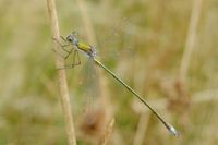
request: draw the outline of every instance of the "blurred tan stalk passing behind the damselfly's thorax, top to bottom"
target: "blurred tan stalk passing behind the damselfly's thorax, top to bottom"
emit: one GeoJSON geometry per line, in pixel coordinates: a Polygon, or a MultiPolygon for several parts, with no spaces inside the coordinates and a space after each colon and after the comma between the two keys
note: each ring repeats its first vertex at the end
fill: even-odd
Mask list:
{"type": "MultiPolygon", "coordinates": [[[[81,11],[81,17],[82,17],[82,24],[83,27],[85,29],[85,34],[87,35],[87,39],[90,44],[95,44],[95,46],[97,46],[97,40],[96,40],[96,34],[94,31],[94,26],[93,23],[90,21],[90,17],[88,15],[88,8],[87,4],[84,0],[76,0],[76,3],[80,8],[81,11]]],[[[104,132],[99,134],[99,138],[102,140],[102,144],[107,144],[110,137],[110,133],[108,130],[112,130],[113,123],[114,121],[109,121],[109,120],[113,120],[112,118],[112,113],[111,113],[111,107],[110,107],[110,101],[108,99],[108,90],[107,90],[107,80],[104,77],[101,71],[99,69],[96,70],[98,76],[99,76],[99,92],[100,92],[100,96],[98,97],[99,101],[100,101],[100,107],[98,108],[98,110],[102,111],[102,117],[101,117],[101,126],[100,128],[105,128],[104,125],[108,125],[111,126],[111,129],[106,129],[102,130],[104,132]],[[107,108],[107,109],[106,109],[107,108]],[[108,135],[107,135],[108,134],[108,135]]],[[[95,100],[98,101],[98,100],[95,100]]]]}

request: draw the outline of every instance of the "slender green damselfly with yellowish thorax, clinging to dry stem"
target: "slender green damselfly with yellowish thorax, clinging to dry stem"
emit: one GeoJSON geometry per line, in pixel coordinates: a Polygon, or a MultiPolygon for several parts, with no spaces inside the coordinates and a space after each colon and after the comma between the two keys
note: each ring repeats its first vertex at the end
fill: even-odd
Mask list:
{"type": "Polygon", "coordinates": [[[144,104],[157,117],[157,119],[168,129],[170,133],[172,133],[174,136],[178,136],[178,131],[152,107],[147,104],[145,99],[143,99],[133,88],[131,88],[125,82],[123,82],[120,77],[118,77],[112,71],[110,71],[106,65],[104,65],[97,58],[96,58],[96,48],[92,45],[88,45],[82,40],[80,40],[75,33],[70,34],[65,38],[61,36],[61,39],[65,43],[65,45],[61,45],[61,43],[58,43],[61,45],[62,49],[68,53],[64,59],[68,59],[70,55],[73,56],[73,63],[71,65],[66,65],[64,68],[60,69],[68,69],[73,68],[74,65],[81,64],[78,51],[87,56],[90,60],[94,61],[94,63],[101,69],[104,69],[109,75],[111,75],[114,80],[117,80],[123,87],[125,87],[130,93],[132,93],[142,104],[144,104]],[[65,47],[71,46],[70,50],[66,50],[65,47]],[[76,61],[76,58],[78,59],[76,61]]]}

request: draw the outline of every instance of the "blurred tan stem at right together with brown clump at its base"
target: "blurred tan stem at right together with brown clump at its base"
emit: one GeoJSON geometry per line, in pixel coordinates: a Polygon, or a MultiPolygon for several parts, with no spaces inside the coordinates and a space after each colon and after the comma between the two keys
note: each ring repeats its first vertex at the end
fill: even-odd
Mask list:
{"type": "MultiPolygon", "coordinates": [[[[191,63],[191,57],[196,41],[196,32],[199,22],[199,15],[202,11],[203,0],[193,0],[193,7],[190,17],[190,24],[187,29],[187,36],[184,45],[184,52],[181,60],[181,65],[179,70],[178,80],[173,82],[173,87],[167,92],[169,96],[169,109],[180,112],[180,118],[185,118],[185,121],[182,121],[182,124],[187,123],[187,109],[190,108],[190,95],[187,92],[187,72],[191,63]],[[173,96],[170,96],[170,93],[173,93],[173,96]],[[186,110],[186,111],[184,111],[186,110]]],[[[180,123],[181,124],[181,123],[180,123]]]]}

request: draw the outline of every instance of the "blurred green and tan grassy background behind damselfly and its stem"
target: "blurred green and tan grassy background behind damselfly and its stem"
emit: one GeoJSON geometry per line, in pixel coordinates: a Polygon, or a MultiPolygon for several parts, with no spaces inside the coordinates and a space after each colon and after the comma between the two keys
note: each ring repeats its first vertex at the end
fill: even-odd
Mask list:
{"type": "MultiPolygon", "coordinates": [[[[99,59],[180,132],[169,134],[105,72],[86,82],[81,55],[83,64],[66,71],[78,145],[218,143],[217,0],[65,0],[57,11],[61,35],[76,31],[97,46],[99,59]],[[96,97],[87,98],[89,88],[96,97]]],[[[46,1],[0,1],[0,145],[68,143],[50,29],[46,1]]]]}

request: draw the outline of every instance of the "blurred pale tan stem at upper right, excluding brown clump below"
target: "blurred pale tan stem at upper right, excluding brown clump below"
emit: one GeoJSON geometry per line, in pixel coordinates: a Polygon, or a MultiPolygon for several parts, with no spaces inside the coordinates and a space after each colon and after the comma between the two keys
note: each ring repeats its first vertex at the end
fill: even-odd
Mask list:
{"type": "Polygon", "coordinates": [[[195,45],[196,39],[196,28],[199,20],[199,14],[202,10],[202,1],[203,0],[194,0],[193,1],[193,9],[187,31],[187,37],[184,47],[184,53],[182,57],[181,68],[180,68],[180,81],[182,83],[186,82],[186,74],[190,65],[191,55],[195,45]]]}

